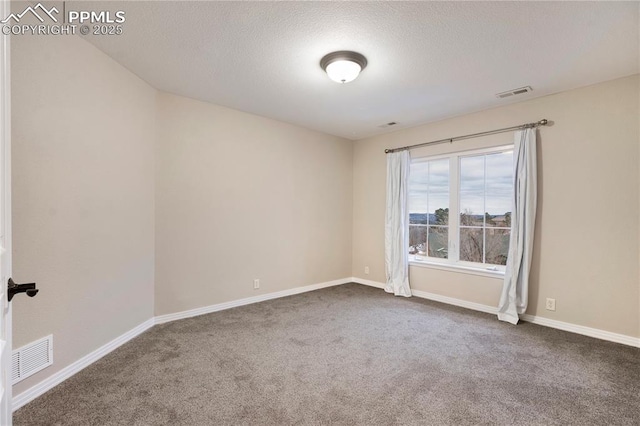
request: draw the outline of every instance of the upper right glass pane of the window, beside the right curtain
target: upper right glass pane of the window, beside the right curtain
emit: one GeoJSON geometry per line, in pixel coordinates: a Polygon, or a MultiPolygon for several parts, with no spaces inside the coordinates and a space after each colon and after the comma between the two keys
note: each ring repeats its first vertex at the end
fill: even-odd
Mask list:
{"type": "Polygon", "coordinates": [[[509,227],[513,194],[513,151],[486,156],[485,223],[509,227]],[[507,224],[507,221],[509,223],[507,224]]]}

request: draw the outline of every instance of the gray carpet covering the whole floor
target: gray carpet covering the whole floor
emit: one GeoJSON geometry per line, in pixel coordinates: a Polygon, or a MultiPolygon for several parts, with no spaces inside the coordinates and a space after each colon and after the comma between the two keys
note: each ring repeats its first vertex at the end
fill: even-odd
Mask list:
{"type": "Polygon", "coordinates": [[[640,349],[348,284],[156,326],[16,425],[638,425],[640,349]]]}

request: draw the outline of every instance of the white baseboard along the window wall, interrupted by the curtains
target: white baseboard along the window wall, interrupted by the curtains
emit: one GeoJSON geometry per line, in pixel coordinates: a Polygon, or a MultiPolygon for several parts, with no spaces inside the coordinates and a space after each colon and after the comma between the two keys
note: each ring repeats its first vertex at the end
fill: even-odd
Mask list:
{"type": "MultiPolygon", "coordinates": [[[[371,287],[384,288],[384,284],[376,281],[365,280],[362,278],[352,277],[351,281],[364,284],[371,287]]],[[[474,311],[485,312],[487,314],[498,314],[498,308],[495,306],[483,305],[481,303],[469,302],[466,300],[456,299],[453,297],[441,296],[439,294],[429,293],[421,290],[411,290],[411,294],[423,299],[429,299],[436,302],[447,303],[449,305],[460,306],[462,308],[472,309],[474,311]]],[[[530,322],[532,324],[538,324],[545,327],[557,328],[558,330],[564,330],[571,333],[582,334],[583,336],[594,337],[600,340],[607,340],[609,342],[621,343],[627,346],[634,346],[640,348],[640,338],[627,336],[624,334],[612,333],[610,331],[600,330],[597,328],[585,327],[582,325],[571,324],[568,322],[557,321],[549,318],[544,318],[536,315],[520,315],[520,320],[530,322]]]]}

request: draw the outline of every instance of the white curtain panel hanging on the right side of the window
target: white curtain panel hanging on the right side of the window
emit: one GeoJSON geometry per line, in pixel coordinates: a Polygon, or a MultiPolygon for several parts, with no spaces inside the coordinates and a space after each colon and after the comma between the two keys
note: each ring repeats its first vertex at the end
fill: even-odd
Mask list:
{"type": "Polygon", "coordinates": [[[529,272],[536,222],[537,172],[536,129],[517,131],[514,144],[514,185],[511,207],[509,255],[498,319],[518,323],[518,314],[527,309],[529,272]]]}

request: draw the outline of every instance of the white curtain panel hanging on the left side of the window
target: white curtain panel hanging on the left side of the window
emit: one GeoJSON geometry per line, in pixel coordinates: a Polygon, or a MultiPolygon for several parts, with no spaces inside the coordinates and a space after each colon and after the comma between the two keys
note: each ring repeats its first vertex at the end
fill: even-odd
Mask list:
{"type": "Polygon", "coordinates": [[[387,154],[387,206],[384,251],[387,283],[384,291],[411,297],[409,287],[409,151],[387,154]]]}

